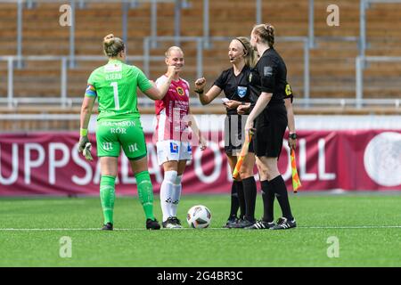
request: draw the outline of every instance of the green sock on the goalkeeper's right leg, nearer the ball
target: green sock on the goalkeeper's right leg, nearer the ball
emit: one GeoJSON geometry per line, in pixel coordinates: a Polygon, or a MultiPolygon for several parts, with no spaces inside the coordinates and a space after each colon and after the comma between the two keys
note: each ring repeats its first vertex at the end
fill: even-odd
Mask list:
{"type": "Polygon", "coordinates": [[[154,220],[153,216],[153,186],[151,185],[151,176],[148,171],[143,171],[135,175],[136,185],[138,187],[139,201],[143,206],[146,219],[154,220]]]}

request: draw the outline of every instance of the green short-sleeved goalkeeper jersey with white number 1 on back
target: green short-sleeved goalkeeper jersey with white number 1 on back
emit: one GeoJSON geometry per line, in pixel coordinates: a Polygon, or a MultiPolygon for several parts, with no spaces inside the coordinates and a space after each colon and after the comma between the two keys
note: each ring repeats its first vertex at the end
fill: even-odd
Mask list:
{"type": "Polygon", "coordinates": [[[97,96],[101,120],[129,120],[139,118],[136,87],[142,92],[151,83],[141,69],[119,60],[110,60],[94,69],[87,80],[86,96],[97,96]]]}

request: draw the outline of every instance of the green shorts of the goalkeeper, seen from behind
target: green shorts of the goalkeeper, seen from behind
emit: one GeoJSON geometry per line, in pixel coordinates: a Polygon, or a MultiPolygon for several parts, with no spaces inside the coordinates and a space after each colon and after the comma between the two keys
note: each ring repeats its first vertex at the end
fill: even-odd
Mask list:
{"type": "Polygon", "coordinates": [[[130,160],[146,156],[146,142],[139,118],[97,122],[97,156],[119,157],[121,147],[130,160]]]}

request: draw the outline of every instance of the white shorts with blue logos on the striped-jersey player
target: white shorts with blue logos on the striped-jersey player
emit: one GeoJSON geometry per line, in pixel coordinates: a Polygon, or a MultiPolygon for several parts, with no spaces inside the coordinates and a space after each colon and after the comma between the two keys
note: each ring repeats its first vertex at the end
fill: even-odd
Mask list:
{"type": "Polygon", "coordinates": [[[191,142],[168,140],[156,142],[156,147],[158,151],[158,162],[160,166],[166,161],[192,159],[191,142]]]}

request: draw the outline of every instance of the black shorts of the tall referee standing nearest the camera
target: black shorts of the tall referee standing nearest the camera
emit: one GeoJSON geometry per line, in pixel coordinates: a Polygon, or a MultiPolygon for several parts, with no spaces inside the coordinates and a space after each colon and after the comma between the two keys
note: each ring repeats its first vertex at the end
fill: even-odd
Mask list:
{"type": "Polygon", "coordinates": [[[257,157],[279,158],[282,140],[288,125],[284,104],[268,105],[256,118],[253,147],[257,157]]]}

